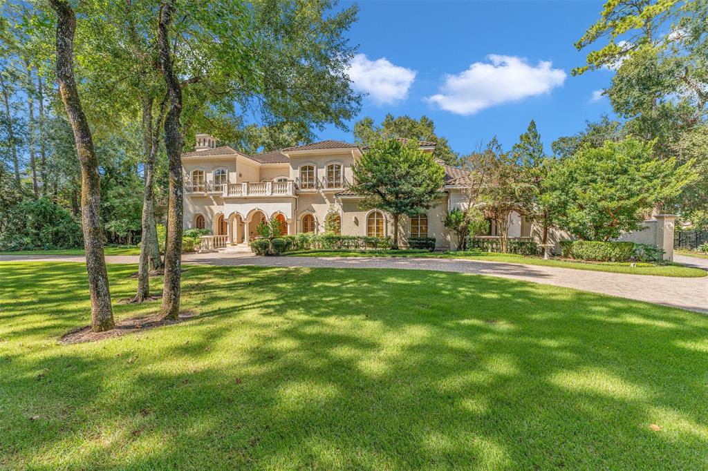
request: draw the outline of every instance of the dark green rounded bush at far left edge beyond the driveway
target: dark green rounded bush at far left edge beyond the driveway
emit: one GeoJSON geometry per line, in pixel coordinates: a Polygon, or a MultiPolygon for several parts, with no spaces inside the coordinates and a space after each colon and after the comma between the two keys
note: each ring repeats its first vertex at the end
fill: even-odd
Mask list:
{"type": "Polygon", "coordinates": [[[76,248],[84,240],[79,222],[47,198],[23,199],[6,209],[3,218],[2,251],[76,248]]]}

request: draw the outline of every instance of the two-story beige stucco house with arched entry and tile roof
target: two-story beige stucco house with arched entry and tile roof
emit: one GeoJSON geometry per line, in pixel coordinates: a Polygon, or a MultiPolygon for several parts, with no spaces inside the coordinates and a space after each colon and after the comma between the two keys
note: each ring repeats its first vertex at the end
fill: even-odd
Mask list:
{"type": "MultiPolygon", "coordinates": [[[[420,149],[435,150],[433,142],[420,149]]],[[[358,207],[360,197],[348,190],[352,165],[362,156],[355,144],[321,141],[249,156],[230,146],[216,146],[197,134],[195,151],[184,153],[184,228],[208,228],[223,236],[219,245],[242,245],[257,236],[258,223],[278,218],[287,233],[324,233],[326,228],[354,236],[392,236],[388,214],[358,207]]],[[[401,221],[402,241],[432,237],[439,249],[455,248],[445,229],[447,211],[464,204],[464,172],[445,168],[445,194],[427,214],[401,221]]],[[[532,224],[510,216],[509,236],[530,239],[532,224]]],[[[492,227],[489,237],[496,236],[492,227]]]]}

